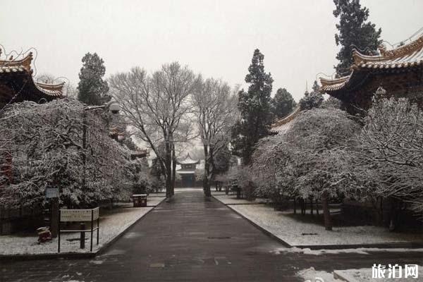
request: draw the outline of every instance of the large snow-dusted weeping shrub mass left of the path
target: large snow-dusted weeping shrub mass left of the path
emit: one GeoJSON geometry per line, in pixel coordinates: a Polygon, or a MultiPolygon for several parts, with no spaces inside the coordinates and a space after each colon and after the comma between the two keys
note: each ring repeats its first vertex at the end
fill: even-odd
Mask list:
{"type": "Polygon", "coordinates": [[[59,188],[61,204],[68,207],[126,197],[123,184],[137,173],[128,160],[128,149],[109,137],[111,116],[101,110],[85,111],[87,146],[83,149],[83,108],[74,99],[23,102],[13,104],[0,118],[0,136],[8,136],[0,138],[0,148],[11,154],[13,168],[11,183],[1,189],[1,205],[42,202],[47,187],[59,188]]]}

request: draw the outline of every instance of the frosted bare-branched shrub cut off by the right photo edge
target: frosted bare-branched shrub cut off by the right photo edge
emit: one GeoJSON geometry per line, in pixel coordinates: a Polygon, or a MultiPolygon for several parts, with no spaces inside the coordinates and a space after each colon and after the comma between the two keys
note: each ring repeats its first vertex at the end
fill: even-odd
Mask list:
{"type": "Polygon", "coordinates": [[[407,99],[375,99],[357,137],[352,169],[377,196],[423,212],[423,111],[407,99]]]}

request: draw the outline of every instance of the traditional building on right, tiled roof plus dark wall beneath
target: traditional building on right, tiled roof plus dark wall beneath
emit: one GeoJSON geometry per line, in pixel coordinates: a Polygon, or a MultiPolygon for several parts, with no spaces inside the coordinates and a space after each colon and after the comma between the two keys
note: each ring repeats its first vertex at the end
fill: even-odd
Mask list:
{"type": "Polygon", "coordinates": [[[369,109],[378,87],[388,95],[407,97],[423,105],[423,35],[396,49],[379,47],[379,53],[368,56],[353,50],[350,75],[321,78],[320,91],[340,99],[351,114],[369,109]]]}

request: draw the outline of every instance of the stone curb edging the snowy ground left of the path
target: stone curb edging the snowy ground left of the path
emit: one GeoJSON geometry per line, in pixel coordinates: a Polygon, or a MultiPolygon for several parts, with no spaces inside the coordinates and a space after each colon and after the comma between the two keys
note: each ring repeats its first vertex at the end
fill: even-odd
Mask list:
{"type": "MultiPolygon", "coordinates": [[[[164,198],[165,199],[165,198],[164,198]]],[[[113,243],[116,242],[119,238],[121,238],[125,233],[129,231],[131,227],[133,227],[136,223],[141,221],[141,219],[144,219],[144,217],[152,212],[153,209],[158,207],[161,203],[163,203],[164,200],[159,202],[156,206],[152,207],[148,212],[143,214],[139,219],[135,220],[133,223],[130,224],[127,228],[125,228],[124,231],[116,235],[113,239],[111,239],[109,242],[104,243],[102,247],[99,248],[99,250],[95,252],[61,252],[61,253],[51,253],[51,254],[25,254],[25,255],[0,255],[0,262],[1,261],[8,261],[8,260],[33,260],[33,259],[89,259],[96,257],[97,255],[101,255],[104,253],[104,251],[109,248],[113,243]]]]}

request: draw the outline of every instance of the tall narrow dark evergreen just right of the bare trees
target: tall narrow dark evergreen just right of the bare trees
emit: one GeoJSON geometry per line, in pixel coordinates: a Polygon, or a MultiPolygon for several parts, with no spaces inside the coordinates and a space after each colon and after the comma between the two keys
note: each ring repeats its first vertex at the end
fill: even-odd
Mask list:
{"type": "Polygon", "coordinates": [[[264,55],[255,49],[245,82],[249,83],[248,91],[238,93],[238,109],[241,119],[233,127],[233,151],[249,164],[253,147],[259,138],[269,134],[271,123],[271,84],[270,73],[264,72],[264,55]]]}

